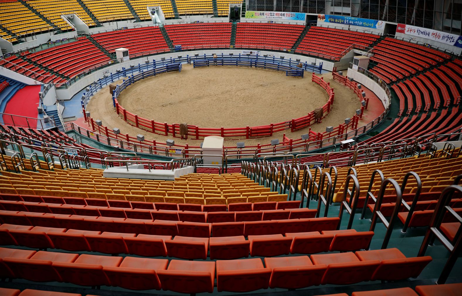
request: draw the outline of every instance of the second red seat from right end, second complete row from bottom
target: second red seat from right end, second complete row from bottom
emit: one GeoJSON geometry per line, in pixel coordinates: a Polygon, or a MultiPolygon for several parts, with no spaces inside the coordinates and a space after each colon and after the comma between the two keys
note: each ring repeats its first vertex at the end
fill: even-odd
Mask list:
{"type": "Polygon", "coordinates": [[[316,254],[328,252],[334,235],[322,235],[317,231],[286,233],[292,237],[290,252],[292,254],[316,254]]]}

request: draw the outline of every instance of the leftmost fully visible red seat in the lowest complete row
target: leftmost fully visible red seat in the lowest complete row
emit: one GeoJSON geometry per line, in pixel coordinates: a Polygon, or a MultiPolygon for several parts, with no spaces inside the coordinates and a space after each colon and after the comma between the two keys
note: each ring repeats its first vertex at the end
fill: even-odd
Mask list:
{"type": "Polygon", "coordinates": [[[39,251],[29,259],[4,258],[3,260],[17,278],[33,282],[61,282],[61,276],[52,264],[72,263],[78,257],[78,254],[39,251]]]}

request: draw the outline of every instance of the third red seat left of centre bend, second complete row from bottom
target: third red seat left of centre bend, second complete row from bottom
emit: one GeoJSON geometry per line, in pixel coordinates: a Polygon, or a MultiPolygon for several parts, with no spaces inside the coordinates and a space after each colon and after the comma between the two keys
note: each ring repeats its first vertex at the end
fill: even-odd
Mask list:
{"type": "Polygon", "coordinates": [[[124,237],[135,237],[134,233],[111,233],[103,232],[100,235],[85,235],[85,238],[93,252],[105,254],[128,254],[128,248],[124,237]]]}

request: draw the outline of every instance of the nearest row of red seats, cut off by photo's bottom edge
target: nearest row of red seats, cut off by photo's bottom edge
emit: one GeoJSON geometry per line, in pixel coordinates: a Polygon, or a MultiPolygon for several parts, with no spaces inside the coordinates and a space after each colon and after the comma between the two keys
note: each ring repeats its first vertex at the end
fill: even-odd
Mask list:
{"type": "MultiPolygon", "coordinates": [[[[274,263],[274,262],[270,262],[274,263]]],[[[352,296],[440,296],[440,295],[457,295],[457,293],[462,289],[462,284],[440,284],[440,285],[421,285],[416,286],[414,290],[411,288],[395,288],[395,289],[386,289],[386,290],[372,290],[372,291],[361,291],[353,292],[352,296]]],[[[52,292],[52,291],[42,291],[42,290],[31,290],[26,289],[21,292],[17,289],[7,289],[0,288],[0,292],[4,296],[82,296],[81,294],[74,293],[61,293],[61,292],[52,292]]],[[[94,296],[94,295],[87,295],[94,296]]],[[[346,293],[332,294],[332,295],[323,295],[323,296],[348,296],[346,293]]]]}

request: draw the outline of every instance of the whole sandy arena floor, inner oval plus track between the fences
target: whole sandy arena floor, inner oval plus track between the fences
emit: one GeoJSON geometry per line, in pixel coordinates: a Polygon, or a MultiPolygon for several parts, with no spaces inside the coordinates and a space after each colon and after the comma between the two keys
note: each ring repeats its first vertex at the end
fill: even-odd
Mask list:
{"type": "MultiPolygon", "coordinates": [[[[322,123],[311,126],[315,132],[327,126],[338,126],[346,117],[353,117],[360,108],[353,91],[322,75],[334,87],[333,109],[322,123]]],[[[163,73],[130,85],[119,96],[120,104],[134,114],[158,122],[188,123],[199,127],[245,127],[278,123],[306,115],[327,102],[326,92],[311,82],[311,73],[304,78],[288,77],[284,72],[234,66],[193,68],[183,65],[181,72],[163,73]]],[[[109,86],[90,100],[87,111],[93,119],[101,119],[107,127],[119,127],[121,133],[136,135],[140,129],[118,117],[112,107],[109,86]]],[[[283,133],[297,139],[308,128],[291,133],[274,133],[271,139],[282,139],[283,133]]],[[[164,141],[165,137],[149,132],[146,140],[164,141]]],[[[225,138],[226,139],[226,138],[225,138]]],[[[181,140],[176,143],[199,145],[202,140],[181,140]]],[[[270,138],[247,139],[247,145],[266,144],[270,138]]],[[[237,139],[226,140],[232,145],[237,139]]]]}

